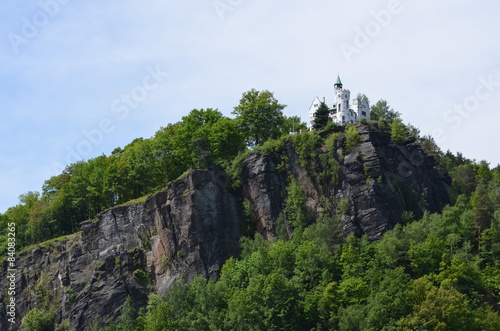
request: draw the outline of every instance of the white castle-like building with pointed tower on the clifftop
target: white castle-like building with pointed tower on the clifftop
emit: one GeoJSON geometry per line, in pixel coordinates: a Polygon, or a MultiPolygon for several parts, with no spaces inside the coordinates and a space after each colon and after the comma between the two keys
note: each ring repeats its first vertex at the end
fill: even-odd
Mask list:
{"type": "MultiPolygon", "coordinates": [[[[370,106],[368,105],[368,100],[364,97],[355,98],[352,100],[352,103],[349,104],[351,92],[342,87],[342,81],[339,76],[337,76],[337,82],[334,85],[334,95],[334,103],[327,104],[330,110],[330,118],[333,122],[337,124],[347,124],[359,122],[362,118],[370,120],[370,106]]],[[[325,102],[324,98],[323,102],[325,102]]],[[[314,114],[318,110],[320,104],[321,100],[315,97],[311,107],[309,107],[310,127],[314,124],[314,114]]]]}

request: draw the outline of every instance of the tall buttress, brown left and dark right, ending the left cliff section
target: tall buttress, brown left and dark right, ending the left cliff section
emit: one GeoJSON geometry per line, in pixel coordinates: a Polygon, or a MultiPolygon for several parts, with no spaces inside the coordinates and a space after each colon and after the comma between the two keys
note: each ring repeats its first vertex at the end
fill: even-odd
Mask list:
{"type": "Polygon", "coordinates": [[[150,264],[164,293],[174,279],[217,279],[226,259],[239,253],[241,213],[221,168],[196,171],[146,203],[155,224],[150,264]]]}

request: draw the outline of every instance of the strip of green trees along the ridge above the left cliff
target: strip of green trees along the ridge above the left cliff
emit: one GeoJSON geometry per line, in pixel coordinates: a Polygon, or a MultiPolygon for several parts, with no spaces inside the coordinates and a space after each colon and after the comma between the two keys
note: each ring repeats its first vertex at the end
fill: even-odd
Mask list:
{"type": "Polygon", "coordinates": [[[191,168],[227,164],[238,153],[278,138],[292,128],[305,129],[298,117],[286,117],[269,91],[243,93],[234,118],[215,109],[194,109],[180,122],[161,128],[150,139],[138,138],[109,156],[69,165],[47,180],[42,192],[20,196],[0,215],[0,252],[8,223],[16,224],[17,248],[79,231],[80,222],[107,208],[164,188],[191,168]]]}

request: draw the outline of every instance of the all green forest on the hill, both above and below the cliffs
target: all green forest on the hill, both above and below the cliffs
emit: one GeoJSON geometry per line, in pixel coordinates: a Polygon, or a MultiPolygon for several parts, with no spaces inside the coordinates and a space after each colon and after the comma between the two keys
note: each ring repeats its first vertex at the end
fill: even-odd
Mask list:
{"type": "MultiPolygon", "coordinates": [[[[237,185],[237,164],[255,149],[271,151],[292,136],[328,144],[353,126],[336,126],[318,114],[313,132],[286,117],[269,91],[243,93],[234,118],[214,109],[192,110],[182,121],[139,138],[109,156],[69,165],[48,179],[42,192],[28,192],[0,215],[0,250],[15,223],[26,247],[79,231],[97,213],[164,188],[190,169],[219,164],[237,185]]],[[[87,330],[500,330],[500,167],[442,152],[432,137],[403,124],[384,100],[372,121],[387,126],[391,140],[411,135],[451,177],[450,201],[440,213],[425,212],[375,242],[344,236],[340,204],[308,224],[304,193],[291,183],[285,210],[293,236],[241,238],[241,256],[224,263],[217,282],[178,280],[165,296],[152,294],[146,307],[128,299],[119,323],[95,319],[87,330]]],[[[307,154],[304,145],[299,153],[307,154]]],[[[35,310],[32,310],[32,312],[35,310]]],[[[30,312],[31,313],[31,312],[30,312]]],[[[50,329],[44,317],[25,318],[31,330],[50,329]]]]}

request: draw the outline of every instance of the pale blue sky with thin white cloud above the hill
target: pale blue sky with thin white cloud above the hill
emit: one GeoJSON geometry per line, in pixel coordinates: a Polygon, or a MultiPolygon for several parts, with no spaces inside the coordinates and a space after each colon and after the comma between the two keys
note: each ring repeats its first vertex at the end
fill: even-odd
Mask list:
{"type": "Polygon", "coordinates": [[[0,213],[66,165],[149,138],[192,109],[269,90],[380,99],[443,151],[500,163],[500,2],[2,1],[0,213]]]}

